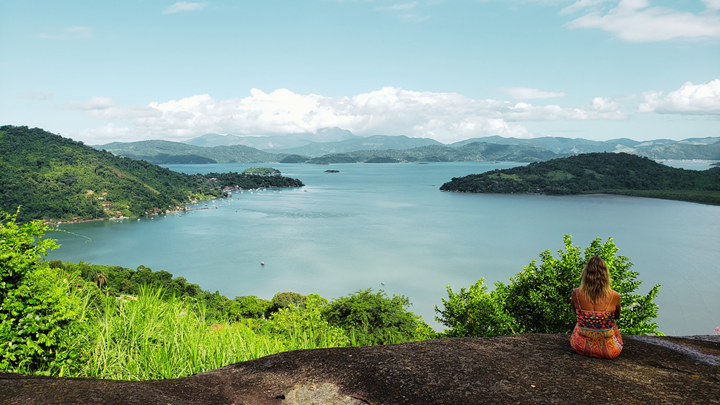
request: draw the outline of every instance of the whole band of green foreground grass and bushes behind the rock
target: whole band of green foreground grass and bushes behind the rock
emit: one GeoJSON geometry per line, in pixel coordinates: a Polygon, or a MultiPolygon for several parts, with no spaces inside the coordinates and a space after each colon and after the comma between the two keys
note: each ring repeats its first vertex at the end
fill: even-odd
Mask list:
{"type": "Polygon", "coordinates": [[[406,297],[360,290],[328,300],[278,293],[229,299],[145,266],[45,261],[56,247],[41,222],[0,222],[0,370],[28,374],[147,380],[176,378],[287,350],[400,343],[438,336],[567,332],[569,297],[590,255],[603,257],[620,292],[625,333],[658,333],[659,286],[642,297],[631,263],[611,240],[585,250],[565,238],[560,259],[541,254],[510,284],[487,292],[482,280],[448,289],[437,334],[407,308],[406,297]]]}

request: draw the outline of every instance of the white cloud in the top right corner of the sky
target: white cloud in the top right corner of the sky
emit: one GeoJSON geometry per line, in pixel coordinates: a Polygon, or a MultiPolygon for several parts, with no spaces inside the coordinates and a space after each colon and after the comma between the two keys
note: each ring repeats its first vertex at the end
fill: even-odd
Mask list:
{"type": "MultiPolygon", "coordinates": [[[[705,0],[709,10],[717,10],[718,2],[705,0]]],[[[599,3],[580,0],[563,11],[570,9],[569,12],[573,12],[599,3]]],[[[720,16],[714,12],[693,14],[665,7],[650,7],[648,0],[621,0],[605,13],[593,10],[568,22],[565,27],[598,28],[628,42],[720,38],[720,16]]]]}

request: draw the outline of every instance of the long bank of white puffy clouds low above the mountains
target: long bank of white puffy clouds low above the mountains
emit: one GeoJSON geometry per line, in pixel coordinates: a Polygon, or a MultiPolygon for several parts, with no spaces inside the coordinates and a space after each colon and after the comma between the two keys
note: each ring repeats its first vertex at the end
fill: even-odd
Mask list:
{"type": "Polygon", "coordinates": [[[128,134],[142,139],[187,139],[208,132],[287,134],[340,127],[358,135],[408,135],[451,142],[486,135],[533,136],[518,124],[524,121],[627,118],[618,111],[616,102],[599,97],[586,107],[563,108],[395,87],[352,97],[252,89],[242,99],[214,100],[201,94],[132,108],[119,106],[107,97],[93,97],[72,102],[70,107],[95,118],[127,120],[132,127],[128,134]]]}

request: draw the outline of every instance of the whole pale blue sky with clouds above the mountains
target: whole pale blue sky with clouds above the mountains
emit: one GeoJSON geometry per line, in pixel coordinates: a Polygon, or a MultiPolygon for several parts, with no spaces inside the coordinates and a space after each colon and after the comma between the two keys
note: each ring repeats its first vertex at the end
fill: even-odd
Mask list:
{"type": "Polygon", "coordinates": [[[0,0],[0,125],[720,136],[720,0],[0,0]]]}

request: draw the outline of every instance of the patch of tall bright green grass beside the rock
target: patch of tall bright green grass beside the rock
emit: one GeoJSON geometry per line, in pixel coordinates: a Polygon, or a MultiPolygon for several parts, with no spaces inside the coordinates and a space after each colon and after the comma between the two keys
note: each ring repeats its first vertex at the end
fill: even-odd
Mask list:
{"type": "Polygon", "coordinates": [[[144,289],[137,300],[106,301],[88,336],[89,360],[77,376],[177,378],[269,354],[347,343],[324,325],[281,320],[209,325],[201,304],[161,297],[160,290],[144,289]]]}

